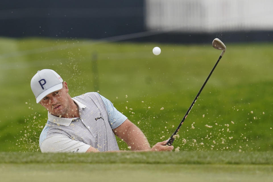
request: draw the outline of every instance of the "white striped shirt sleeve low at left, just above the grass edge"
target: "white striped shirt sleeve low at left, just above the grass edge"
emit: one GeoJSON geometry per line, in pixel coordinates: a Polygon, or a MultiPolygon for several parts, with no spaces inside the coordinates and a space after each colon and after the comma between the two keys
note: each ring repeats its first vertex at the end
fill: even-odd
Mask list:
{"type": "Polygon", "coordinates": [[[41,146],[42,153],[45,152],[79,152],[84,153],[90,148],[90,145],[71,138],[65,135],[53,135],[46,138],[41,146]]]}

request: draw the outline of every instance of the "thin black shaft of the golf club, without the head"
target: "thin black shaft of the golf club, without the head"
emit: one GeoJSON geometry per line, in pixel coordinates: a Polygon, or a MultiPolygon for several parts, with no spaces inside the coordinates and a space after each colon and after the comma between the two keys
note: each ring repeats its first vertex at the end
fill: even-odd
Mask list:
{"type": "Polygon", "coordinates": [[[199,97],[200,93],[202,92],[204,86],[206,85],[208,79],[210,78],[212,72],[213,72],[214,69],[216,68],[216,66],[217,66],[217,64],[218,64],[218,62],[220,61],[221,58],[222,58],[222,55],[220,55],[218,61],[216,62],[216,64],[215,64],[214,67],[212,68],[210,74],[208,75],[208,78],[207,78],[206,81],[204,82],[204,84],[203,84],[203,86],[201,87],[201,89],[199,90],[197,96],[196,96],[195,99],[193,100],[193,103],[191,103],[191,106],[189,107],[188,111],[186,112],[185,116],[184,116],[183,119],[181,120],[181,122],[180,122],[179,126],[177,127],[177,129],[175,130],[175,132],[171,135],[171,138],[169,139],[169,141],[167,142],[166,145],[171,145],[171,144],[173,143],[174,139],[176,138],[176,137],[174,138],[173,136],[175,136],[175,135],[177,134],[177,132],[179,131],[181,125],[184,123],[184,120],[187,118],[189,112],[191,111],[191,108],[192,108],[193,105],[195,104],[197,98],[199,97]]]}

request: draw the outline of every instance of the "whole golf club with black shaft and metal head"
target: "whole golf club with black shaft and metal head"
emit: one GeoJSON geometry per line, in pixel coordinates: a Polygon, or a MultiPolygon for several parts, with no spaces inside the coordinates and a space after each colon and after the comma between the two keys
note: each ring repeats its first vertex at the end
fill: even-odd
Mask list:
{"type": "Polygon", "coordinates": [[[223,57],[225,51],[226,51],[226,46],[225,44],[218,38],[215,38],[213,41],[212,41],[212,46],[215,48],[215,49],[218,49],[218,50],[222,50],[222,53],[218,59],[218,61],[216,62],[216,64],[214,65],[214,67],[212,68],[210,74],[208,75],[208,78],[206,79],[206,81],[204,82],[203,86],[201,87],[201,89],[199,90],[197,96],[195,97],[195,99],[193,100],[193,103],[191,103],[191,106],[189,107],[188,111],[186,112],[185,116],[183,117],[182,121],[180,122],[179,126],[177,127],[177,129],[175,130],[175,132],[171,135],[169,141],[167,142],[166,145],[171,145],[173,143],[173,140],[176,138],[177,136],[177,132],[179,131],[181,125],[183,124],[184,120],[187,118],[189,112],[191,111],[191,108],[193,107],[193,105],[195,104],[198,96],[200,95],[201,91],[203,90],[204,86],[206,85],[208,79],[210,78],[212,72],[214,71],[215,67],[217,66],[218,62],[220,61],[220,59],[223,57]]]}

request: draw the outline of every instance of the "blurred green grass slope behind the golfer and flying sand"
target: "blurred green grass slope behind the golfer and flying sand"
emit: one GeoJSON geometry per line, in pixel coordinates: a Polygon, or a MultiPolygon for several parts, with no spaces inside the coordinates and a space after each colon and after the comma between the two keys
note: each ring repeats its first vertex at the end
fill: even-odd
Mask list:
{"type": "MultiPolygon", "coordinates": [[[[173,146],[197,151],[272,151],[273,44],[226,44],[227,51],[173,146]]],[[[97,92],[146,135],[151,146],[175,131],[216,63],[208,44],[107,43],[0,38],[0,151],[40,151],[47,111],[30,80],[53,69],[71,97],[97,92]],[[152,54],[158,46],[162,53],[152,54]]],[[[127,145],[118,139],[121,150],[127,145]]]]}

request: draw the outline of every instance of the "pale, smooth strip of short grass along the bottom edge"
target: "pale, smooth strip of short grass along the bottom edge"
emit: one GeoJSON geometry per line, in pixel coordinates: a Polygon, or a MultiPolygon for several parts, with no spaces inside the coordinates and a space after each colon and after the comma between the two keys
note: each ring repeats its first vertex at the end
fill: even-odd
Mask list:
{"type": "Polygon", "coordinates": [[[0,164],[8,181],[272,181],[273,166],[187,164],[0,164]]]}

